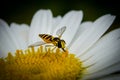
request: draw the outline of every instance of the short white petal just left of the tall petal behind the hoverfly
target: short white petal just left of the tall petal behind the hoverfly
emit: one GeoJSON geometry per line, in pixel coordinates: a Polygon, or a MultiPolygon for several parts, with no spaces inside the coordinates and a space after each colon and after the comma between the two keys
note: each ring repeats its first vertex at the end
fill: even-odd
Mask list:
{"type": "Polygon", "coordinates": [[[17,42],[20,45],[19,49],[26,49],[28,43],[28,34],[29,34],[29,27],[26,24],[16,24],[12,23],[10,25],[10,30],[14,32],[14,37],[17,39],[17,42]]]}

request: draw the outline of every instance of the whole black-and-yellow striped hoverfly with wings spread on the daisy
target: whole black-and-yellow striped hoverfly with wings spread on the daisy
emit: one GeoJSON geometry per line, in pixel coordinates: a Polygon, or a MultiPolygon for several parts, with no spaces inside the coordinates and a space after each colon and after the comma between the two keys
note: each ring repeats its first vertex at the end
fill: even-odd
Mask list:
{"type": "MultiPolygon", "coordinates": [[[[64,52],[65,52],[65,44],[66,42],[61,39],[63,33],[66,30],[66,26],[60,28],[57,30],[56,35],[58,37],[54,37],[50,34],[39,34],[39,37],[42,38],[43,41],[40,42],[36,42],[34,44],[29,45],[29,47],[32,46],[40,46],[40,45],[44,45],[44,44],[49,44],[51,43],[53,46],[55,46],[53,49],[55,49],[56,47],[61,48],[64,52]]],[[[51,46],[51,45],[46,45],[46,46],[51,46]]]]}

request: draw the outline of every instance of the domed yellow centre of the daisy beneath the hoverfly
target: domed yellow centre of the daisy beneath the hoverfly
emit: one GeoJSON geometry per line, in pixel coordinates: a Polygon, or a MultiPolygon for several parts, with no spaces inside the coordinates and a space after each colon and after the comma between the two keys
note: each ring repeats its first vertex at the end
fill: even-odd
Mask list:
{"type": "Polygon", "coordinates": [[[84,70],[80,59],[68,50],[46,51],[43,46],[0,58],[0,80],[77,80],[84,70]]]}

